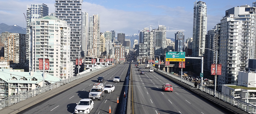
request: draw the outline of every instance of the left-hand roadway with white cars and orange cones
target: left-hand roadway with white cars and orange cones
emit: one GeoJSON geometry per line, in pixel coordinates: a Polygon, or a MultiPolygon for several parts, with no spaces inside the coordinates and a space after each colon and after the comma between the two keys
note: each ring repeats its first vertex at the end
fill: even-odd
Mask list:
{"type": "MultiPolygon", "coordinates": [[[[113,84],[115,86],[115,91],[112,93],[105,93],[101,101],[93,100],[94,109],[91,110],[91,114],[108,114],[109,106],[111,106],[112,114],[115,114],[117,108],[117,97],[120,98],[120,95],[123,97],[121,90],[123,88],[123,82],[128,71],[129,63],[125,63],[124,65],[118,64],[116,67],[98,75],[104,76],[104,86],[106,84],[113,84]],[[113,78],[115,76],[121,76],[121,82],[113,82],[113,78]]],[[[82,98],[88,98],[89,90],[91,90],[92,85],[96,83],[98,76],[86,80],[71,89],[38,103],[19,114],[73,114],[76,103],[78,103],[82,98]]]]}

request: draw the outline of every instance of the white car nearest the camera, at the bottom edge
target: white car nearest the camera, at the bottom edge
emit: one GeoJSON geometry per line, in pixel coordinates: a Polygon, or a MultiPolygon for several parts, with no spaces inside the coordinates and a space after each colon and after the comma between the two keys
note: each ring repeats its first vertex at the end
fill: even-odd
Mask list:
{"type": "Polygon", "coordinates": [[[89,114],[93,109],[93,101],[89,98],[81,99],[78,103],[76,103],[75,113],[76,114],[89,114]]]}

